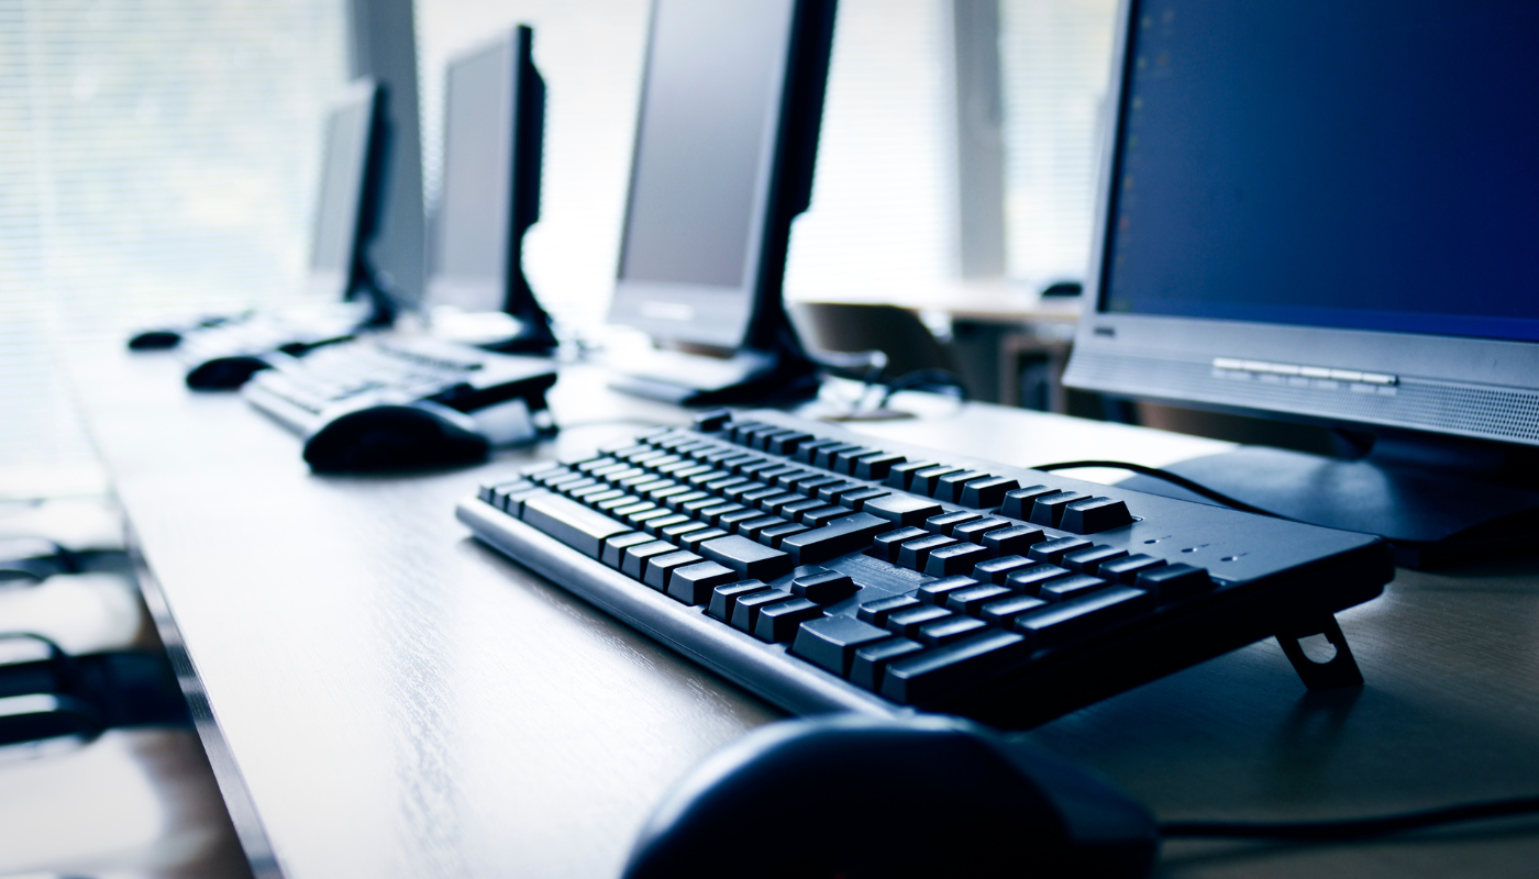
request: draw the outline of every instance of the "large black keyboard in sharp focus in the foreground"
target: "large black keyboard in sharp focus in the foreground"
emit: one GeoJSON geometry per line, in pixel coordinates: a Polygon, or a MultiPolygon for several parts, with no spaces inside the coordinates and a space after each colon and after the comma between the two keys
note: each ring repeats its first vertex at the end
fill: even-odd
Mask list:
{"type": "Polygon", "coordinates": [[[534,466],[457,513],[790,711],[1014,728],[1273,634],[1322,631],[1393,577],[1374,536],[774,411],[534,466]]]}

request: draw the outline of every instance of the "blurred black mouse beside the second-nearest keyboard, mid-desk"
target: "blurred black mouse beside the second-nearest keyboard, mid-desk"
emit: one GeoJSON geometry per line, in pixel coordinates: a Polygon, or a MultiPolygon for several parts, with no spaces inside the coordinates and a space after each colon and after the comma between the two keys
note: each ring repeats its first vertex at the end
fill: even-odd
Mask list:
{"type": "Polygon", "coordinates": [[[419,402],[331,419],[305,440],[305,463],[315,473],[385,473],[480,463],[488,451],[468,417],[419,402]]]}

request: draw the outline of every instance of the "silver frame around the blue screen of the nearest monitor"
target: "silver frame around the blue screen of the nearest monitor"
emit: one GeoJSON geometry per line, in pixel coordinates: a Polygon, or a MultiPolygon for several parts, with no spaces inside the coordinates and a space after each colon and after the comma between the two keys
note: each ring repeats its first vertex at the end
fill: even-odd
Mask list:
{"type": "MultiPolygon", "coordinates": [[[[1156,400],[1173,405],[1230,411],[1260,417],[1305,420],[1347,428],[1394,428],[1444,436],[1462,436],[1508,443],[1539,445],[1539,436],[1514,436],[1482,428],[1499,420],[1497,413],[1471,413],[1471,419],[1407,414],[1410,406],[1394,406],[1396,394],[1416,389],[1428,394],[1459,394],[1461,399],[1490,396],[1491,406],[1521,403],[1531,397],[1539,405],[1539,343],[1428,336],[1376,329],[1217,320],[1156,314],[1127,314],[1105,309],[1103,282],[1110,271],[1108,243],[1116,217],[1120,179],[1123,126],[1128,115],[1128,85],[1133,65],[1128,55],[1133,25],[1143,0],[1119,5],[1108,106],[1111,125],[1102,132],[1102,162],[1097,180],[1096,225],[1090,265],[1085,272],[1085,311],[1074,339],[1074,354],[1063,374],[1073,388],[1117,397],[1156,400]],[[1190,380],[1179,389],[1162,383],[1182,369],[1190,380]],[[1228,369],[1224,366],[1239,366],[1228,369]],[[1154,366],[1154,368],[1151,368],[1154,366]],[[1370,374],[1384,405],[1374,406],[1365,394],[1342,400],[1330,394],[1367,391],[1354,382],[1324,382],[1302,388],[1294,399],[1277,399],[1277,382],[1290,371],[1333,369],[1342,376],[1370,374]],[[1207,369],[1207,376],[1202,371],[1207,369]],[[1337,386],[1330,386],[1336,382],[1337,386]],[[1393,391],[1379,391],[1388,386],[1393,391]],[[1319,391],[1317,399],[1313,391],[1319,391]],[[1496,402],[1496,400],[1505,402],[1496,402]],[[1350,403],[1350,405],[1347,405],[1350,403]],[[1476,426],[1470,426],[1470,425],[1476,426]]],[[[1525,403],[1527,405],[1527,403],[1525,403]]]]}

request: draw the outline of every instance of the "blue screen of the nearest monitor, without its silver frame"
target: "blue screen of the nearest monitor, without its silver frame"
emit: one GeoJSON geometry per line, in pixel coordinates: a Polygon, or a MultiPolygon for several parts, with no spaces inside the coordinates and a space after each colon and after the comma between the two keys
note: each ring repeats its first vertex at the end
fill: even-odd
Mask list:
{"type": "Polygon", "coordinates": [[[1539,340],[1539,3],[1130,28],[1103,311],[1539,340]]]}

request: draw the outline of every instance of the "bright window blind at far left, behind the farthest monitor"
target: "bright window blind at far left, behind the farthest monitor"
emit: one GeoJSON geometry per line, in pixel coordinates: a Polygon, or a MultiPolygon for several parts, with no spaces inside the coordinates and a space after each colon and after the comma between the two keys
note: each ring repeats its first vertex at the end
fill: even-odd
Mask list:
{"type": "Polygon", "coordinates": [[[57,342],[297,288],[343,34],[342,0],[0,0],[0,479],[89,460],[57,342]]]}

